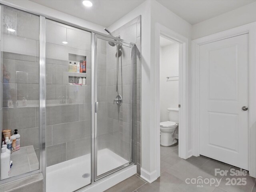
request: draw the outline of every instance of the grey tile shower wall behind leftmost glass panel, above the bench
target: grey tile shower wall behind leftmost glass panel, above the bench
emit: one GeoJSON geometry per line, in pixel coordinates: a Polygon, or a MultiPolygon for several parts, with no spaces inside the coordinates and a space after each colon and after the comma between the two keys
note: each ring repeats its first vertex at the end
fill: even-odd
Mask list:
{"type": "Polygon", "coordinates": [[[1,8],[0,131],[11,129],[13,134],[18,129],[20,146],[33,146],[38,156],[39,16],[1,8]],[[24,98],[26,106],[22,105],[24,98]]]}

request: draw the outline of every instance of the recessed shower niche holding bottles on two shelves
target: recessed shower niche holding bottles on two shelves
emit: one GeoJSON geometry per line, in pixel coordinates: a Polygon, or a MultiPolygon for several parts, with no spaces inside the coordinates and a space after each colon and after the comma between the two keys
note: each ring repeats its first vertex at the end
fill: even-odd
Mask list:
{"type": "Polygon", "coordinates": [[[86,56],[68,53],[68,84],[86,85],[86,56]]]}

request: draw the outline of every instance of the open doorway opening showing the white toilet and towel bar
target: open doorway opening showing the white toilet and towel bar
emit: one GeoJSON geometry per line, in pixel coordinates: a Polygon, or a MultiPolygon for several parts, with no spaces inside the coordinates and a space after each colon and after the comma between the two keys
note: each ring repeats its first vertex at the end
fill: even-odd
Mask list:
{"type": "Polygon", "coordinates": [[[179,43],[160,36],[160,172],[178,157],[179,43]]]}

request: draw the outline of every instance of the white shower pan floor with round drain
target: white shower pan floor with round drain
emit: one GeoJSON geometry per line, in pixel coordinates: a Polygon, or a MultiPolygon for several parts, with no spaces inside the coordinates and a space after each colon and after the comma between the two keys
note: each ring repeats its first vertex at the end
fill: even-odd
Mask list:
{"type": "MultiPolygon", "coordinates": [[[[98,151],[98,175],[128,163],[109,149],[98,151]]],[[[91,154],[46,168],[46,192],[72,192],[91,182],[91,154]]]]}

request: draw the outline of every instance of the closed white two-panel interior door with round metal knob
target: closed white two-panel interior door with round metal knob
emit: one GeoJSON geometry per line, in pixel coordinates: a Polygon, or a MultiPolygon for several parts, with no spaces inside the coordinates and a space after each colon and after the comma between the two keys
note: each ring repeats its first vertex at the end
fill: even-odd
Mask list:
{"type": "Polygon", "coordinates": [[[200,46],[200,154],[248,170],[248,34],[200,46]]]}

